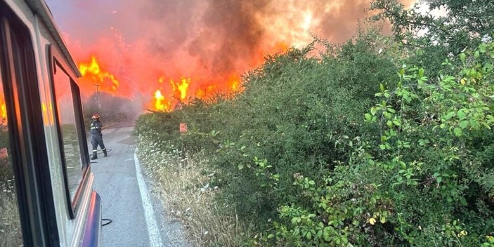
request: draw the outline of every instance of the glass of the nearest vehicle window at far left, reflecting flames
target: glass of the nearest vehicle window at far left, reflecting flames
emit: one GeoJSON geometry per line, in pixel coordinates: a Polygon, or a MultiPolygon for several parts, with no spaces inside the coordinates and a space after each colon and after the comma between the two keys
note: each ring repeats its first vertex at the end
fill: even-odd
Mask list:
{"type": "MultiPolygon", "coordinates": [[[[1,72],[1,71],[0,71],[1,72]]],[[[0,74],[0,241],[2,246],[21,246],[22,230],[12,167],[7,106],[0,74]]]]}

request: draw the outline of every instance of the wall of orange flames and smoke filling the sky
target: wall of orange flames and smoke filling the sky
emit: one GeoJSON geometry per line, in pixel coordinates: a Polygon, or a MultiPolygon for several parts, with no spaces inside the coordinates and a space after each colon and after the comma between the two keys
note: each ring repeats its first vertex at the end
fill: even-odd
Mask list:
{"type": "Polygon", "coordinates": [[[370,0],[47,4],[79,62],[83,94],[98,87],[170,111],[178,101],[241,92],[244,71],[259,66],[266,53],[306,45],[310,33],[333,42],[350,38],[370,0]]]}

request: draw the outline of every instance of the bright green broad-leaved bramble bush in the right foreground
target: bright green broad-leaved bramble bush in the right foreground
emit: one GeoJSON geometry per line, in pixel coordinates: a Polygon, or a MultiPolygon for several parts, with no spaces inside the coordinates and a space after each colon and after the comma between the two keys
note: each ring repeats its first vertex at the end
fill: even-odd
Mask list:
{"type": "Polygon", "coordinates": [[[349,162],[322,183],[299,176],[311,205],[282,206],[267,243],[491,246],[493,54],[494,43],[462,53],[438,81],[403,67],[364,115],[380,141],[346,139],[349,162]]]}

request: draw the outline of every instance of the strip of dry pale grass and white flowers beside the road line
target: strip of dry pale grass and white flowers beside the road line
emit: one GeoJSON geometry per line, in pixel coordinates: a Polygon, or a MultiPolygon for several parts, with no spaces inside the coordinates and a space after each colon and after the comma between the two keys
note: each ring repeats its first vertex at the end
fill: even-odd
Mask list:
{"type": "MultiPolygon", "coordinates": [[[[154,136],[154,135],[146,135],[154,136]]],[[[235,212],[218,205],[218,187],[211,187],[214,171],[207,171],[205,155],[181,158],[178,148],[138,136],[137,154],[170,218],[177,218],[193,246],[239,246],[244,234],[235,212]],[[163,149],[168,150],[162,151],[163,149]]]]}

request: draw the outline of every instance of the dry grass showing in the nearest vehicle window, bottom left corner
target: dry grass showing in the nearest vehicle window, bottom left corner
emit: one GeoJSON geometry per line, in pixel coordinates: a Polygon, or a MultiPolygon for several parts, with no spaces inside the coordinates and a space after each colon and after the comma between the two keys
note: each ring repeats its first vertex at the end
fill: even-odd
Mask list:
{"type": "Polygon", "coordinates": [[[13,181],[0,179],[0,246],[23,246],[13,181]]]}

